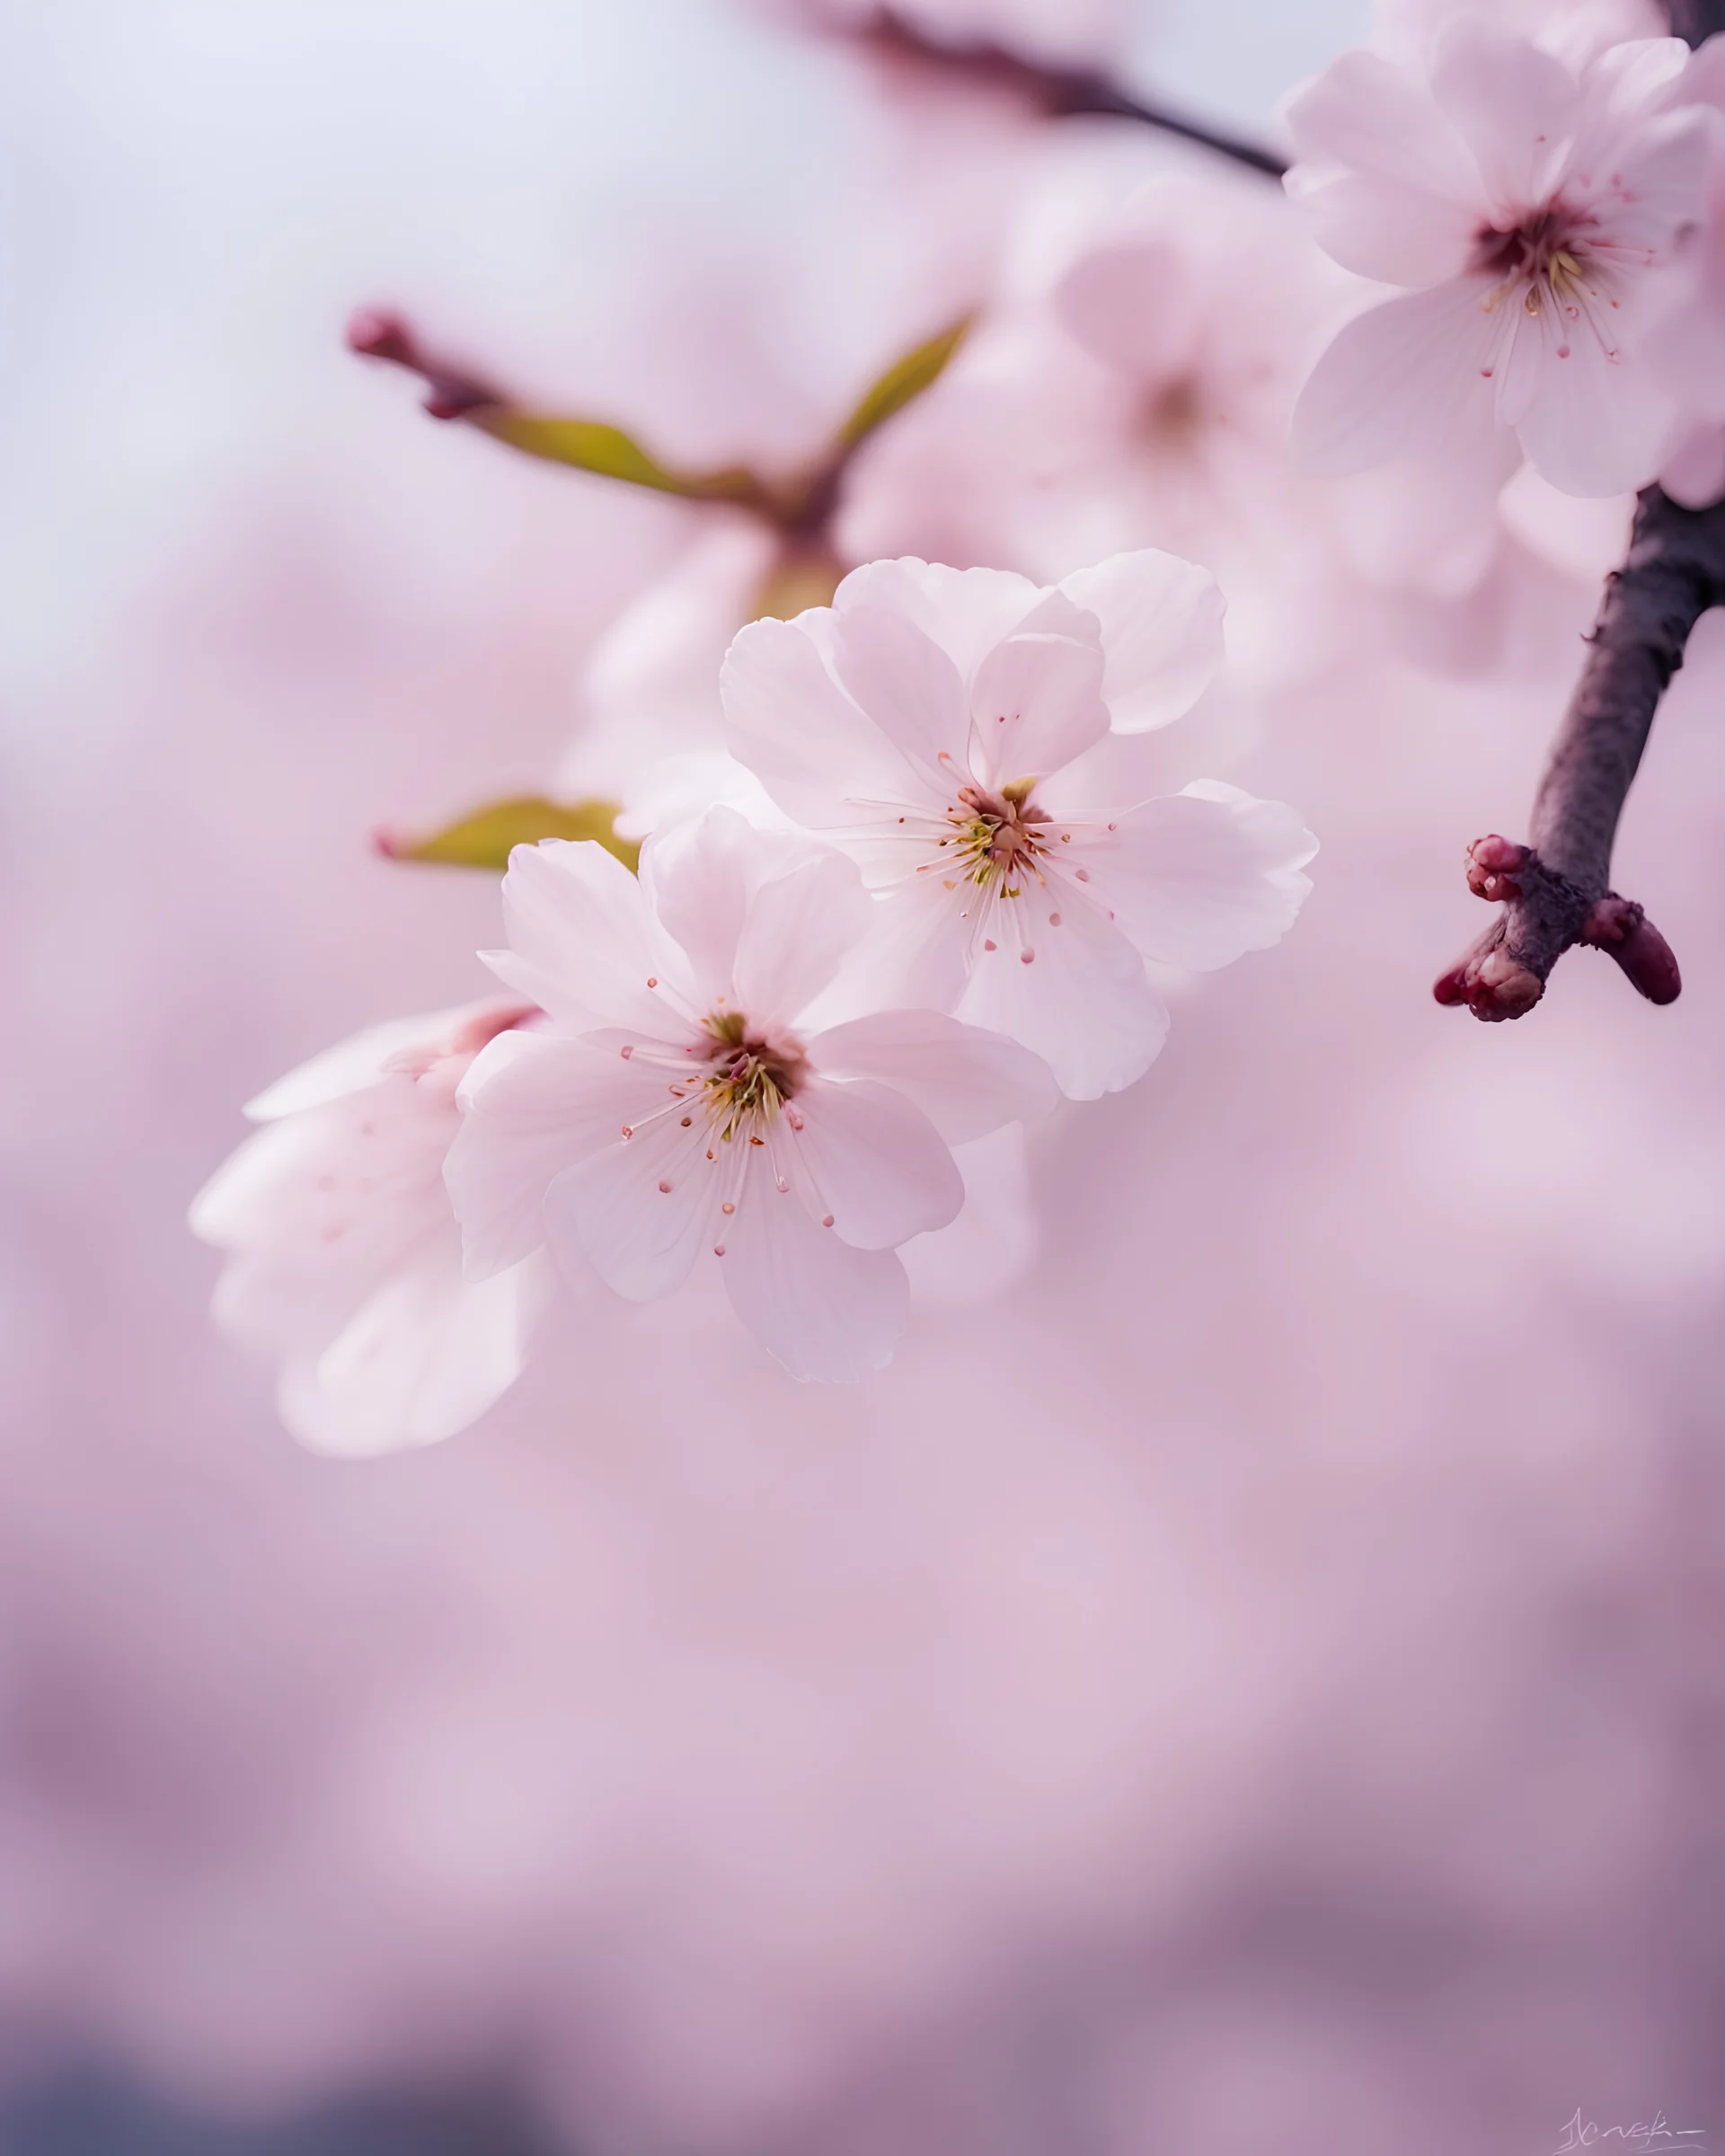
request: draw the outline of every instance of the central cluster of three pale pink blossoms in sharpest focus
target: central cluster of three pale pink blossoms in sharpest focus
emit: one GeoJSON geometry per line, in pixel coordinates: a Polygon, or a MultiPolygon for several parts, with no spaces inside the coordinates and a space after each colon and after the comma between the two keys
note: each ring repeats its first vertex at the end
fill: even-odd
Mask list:
{"type": "Polygon", "coordinates": [[[1061,589],[871,563],[746,627],[727,735],[770,815],[673,815],[638,873],[515,847],[485,962],[518,1000],[377,1028],[252,1104],[194,1227],[289,1425],[446,1436],[552,1307],[593,1322],[699,1261],[798,1378],[880,1367],[899,1248],[964,1205],[955,1149],[1132,1084],[1169,1024],[1149,966],[1225,966],[1298,912],[1298,815],[1143,763],[1220,612],[1151,550],[1061,589]]]}

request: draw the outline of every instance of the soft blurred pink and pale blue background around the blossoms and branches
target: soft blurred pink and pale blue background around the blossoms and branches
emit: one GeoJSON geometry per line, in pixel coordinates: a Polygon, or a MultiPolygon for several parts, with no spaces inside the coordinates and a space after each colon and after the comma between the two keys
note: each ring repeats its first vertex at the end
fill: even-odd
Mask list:
{"type": "MultiPolygon", "coordinates": [[[[983,287],[1029,123],[724,0],[6,30],[0,2152],[1725,2137],[1716,617],[1622,847],[1671,1011],[1430,1003],[1574,623],[1317,679],[1242,774],[1302,923],[1039,1136],[1003,1298],[843,1393],[634,1309],[315,1460],[185,1205],[483,992],[494,882],[371,832],[543,787],[690,515],[433,427],[349,308],[770,457],[983,287]]],[[[1270,134],[1365,9],[1130,30],[1270,134]]]]}

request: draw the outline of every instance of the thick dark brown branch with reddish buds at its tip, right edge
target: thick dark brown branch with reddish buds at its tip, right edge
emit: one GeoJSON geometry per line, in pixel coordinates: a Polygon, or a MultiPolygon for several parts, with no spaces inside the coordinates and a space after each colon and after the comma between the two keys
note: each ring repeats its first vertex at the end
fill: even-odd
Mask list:
{"type": "Polygon", "coordinates": [[[1520,1018],[1578,942],[1609,951],[1652,1003],[1675,1000],[1682,983],[1669,944],[1632,899],[1609,888],[1611,845],[1688,632],[1721,604],[1725,502],[1680,509],[1647,487],[1533,800],[1533,843],[1492,837],[1468,849],[1468,888],[1505,906],[1436,983],[1438,1003],[1464,1003],[1475,1018],[1520,1018]]]}

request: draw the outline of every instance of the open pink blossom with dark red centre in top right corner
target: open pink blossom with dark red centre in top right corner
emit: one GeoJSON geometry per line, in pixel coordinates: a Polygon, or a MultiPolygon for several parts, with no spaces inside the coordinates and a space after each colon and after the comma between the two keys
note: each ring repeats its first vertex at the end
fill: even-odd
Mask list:
{"type": "Polygon", "coordinates": [[[1703,209],[1686,58],[1643,39],[1572,69],[1464,15],[1430,67],[1350,52],[1294,99],[1289,192],[1317,241],[1412,287],[1317,362],[1294,418],[1315,461],[1479,466],[1514,436],[1565,494],[1654,476],[1673,403],[1639,347],[1703,209]]]}

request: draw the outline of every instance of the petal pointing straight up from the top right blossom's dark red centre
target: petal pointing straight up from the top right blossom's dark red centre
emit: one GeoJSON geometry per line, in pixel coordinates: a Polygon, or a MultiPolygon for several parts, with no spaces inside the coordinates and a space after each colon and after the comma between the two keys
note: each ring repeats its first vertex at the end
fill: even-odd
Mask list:
{"type": "Polygon", "coordinates": [[[1548,188],[1581,110],[1576,78],[1531,39],[1481,17],[1445,24],[1432,101],[1473,151],[1494,209],[1518,216],[1548,188]]]}

